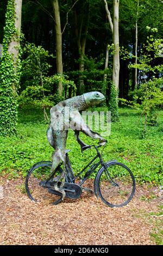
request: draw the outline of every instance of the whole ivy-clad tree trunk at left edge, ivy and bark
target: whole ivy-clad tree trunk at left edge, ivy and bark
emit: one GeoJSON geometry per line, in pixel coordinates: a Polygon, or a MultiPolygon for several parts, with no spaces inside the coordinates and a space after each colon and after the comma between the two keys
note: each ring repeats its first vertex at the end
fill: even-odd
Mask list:
{"type": "Polygon", "coordinates": [[[9,0],[5,15],[3,53],[0,67],[0,133],[16,132],[17,87],[19,82],[19,49],[22,0],[9,0]]]}

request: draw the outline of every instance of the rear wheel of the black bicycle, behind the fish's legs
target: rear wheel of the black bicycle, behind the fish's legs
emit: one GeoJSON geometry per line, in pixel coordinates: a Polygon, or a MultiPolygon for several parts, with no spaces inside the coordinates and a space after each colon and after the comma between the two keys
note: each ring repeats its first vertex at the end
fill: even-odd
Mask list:
{"type": "MultiPolygon", "coordinates": [[[[60,195],[49,193],[48,188],[45,186],[45,182],[50,176],[52,163],[48,161],[42,161],[34,164],[30,168],[26,176],[26,191],[28,197],[34,202],[54,202],[60,195]]],[[[55,176],[58,176],[62,172],[62,169],[58,167],[55,176]]],[[[54,178],[54,177],[53,177],[54,178]]]]}

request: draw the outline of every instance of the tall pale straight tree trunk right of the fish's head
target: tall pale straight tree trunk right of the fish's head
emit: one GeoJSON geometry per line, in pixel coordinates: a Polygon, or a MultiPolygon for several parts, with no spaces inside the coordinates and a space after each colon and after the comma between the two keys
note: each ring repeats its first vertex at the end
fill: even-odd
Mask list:
{"type": "Polygon", "coordinates": [[[114,0],[114,20],[113,20],[113,41],[114,41],[114,56],[112,69],[112,82],[118,92],[119,74],[120,74],[120,50],[119,50],[119,4],[120,0],[114,0]]]}

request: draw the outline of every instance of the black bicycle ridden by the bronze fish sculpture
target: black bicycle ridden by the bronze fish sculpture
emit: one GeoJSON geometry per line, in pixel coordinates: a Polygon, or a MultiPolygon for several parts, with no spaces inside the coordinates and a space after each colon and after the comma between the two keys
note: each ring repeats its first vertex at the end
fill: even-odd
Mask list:
{"type": "MultiPolygon", "coordinates": [[[[66,182],[58,182],[58,186],[66,192],[66,198],[77,199],[82,191],[95,192],[96,196],[110,207],[122,207],[127,205],[135,193],[135,179],[131,170],[123,163],[112,160],[104,162],[98,148],[101,145],[88,145],[83,150],[95,148],[97,155],[74,176],[71,163],[66,150],[66,182]],[[98,161],[97,161],[98,160],[98,161]],[[84,182],[96,169],[99,168],[93,182],[93,190],[83,187],[84,182]]],[[[57,204],[62,194],[54,189],[57,176],[63,171],[61,166],[49,174],[52,162],[42,161],[35,163],[26,176],[26,191],[31,200],[40,202],[46,199],[47,202],[57,204]],[[51,197],[49,197],[51,193],[51,197]],[[53,196],[52,196],[53,195],[53,196]]],[[[90,182],[91,183],[91,180],[90,182]]]]}

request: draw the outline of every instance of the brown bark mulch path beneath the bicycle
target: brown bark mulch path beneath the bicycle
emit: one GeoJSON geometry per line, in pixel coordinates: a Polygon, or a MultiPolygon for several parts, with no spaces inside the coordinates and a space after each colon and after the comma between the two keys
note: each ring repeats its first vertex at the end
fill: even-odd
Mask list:
{"type": "Polygon", "coordinates": [[[33,203],[22,193],[24,180],[0,178],[1,245],[154,245],[154,222],[145,217],[158,211],[158,188],[138,187],[123,208],[109,208],[94,194],[83,192],[77,200],[53,206],[33,203]],[[153,200],[140,200],[149,198],[153,200]],[[142,215],[146,213],[147,215],[142,215]],[[141,216],[140,216],[141,215],[141,216]]]}

